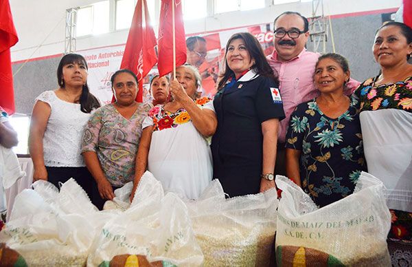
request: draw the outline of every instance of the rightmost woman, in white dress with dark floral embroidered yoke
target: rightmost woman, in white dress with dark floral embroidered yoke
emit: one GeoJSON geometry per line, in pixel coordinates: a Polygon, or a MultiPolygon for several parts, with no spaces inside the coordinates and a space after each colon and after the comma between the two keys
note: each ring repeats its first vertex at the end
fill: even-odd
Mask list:
{"type": "Polygon", "coordinates": [[[385,184],[390,239],[412,241],[412,28],[388,22],[372,52],[381,73],[354,92],[359,100],[367,170],[385,184]]]}

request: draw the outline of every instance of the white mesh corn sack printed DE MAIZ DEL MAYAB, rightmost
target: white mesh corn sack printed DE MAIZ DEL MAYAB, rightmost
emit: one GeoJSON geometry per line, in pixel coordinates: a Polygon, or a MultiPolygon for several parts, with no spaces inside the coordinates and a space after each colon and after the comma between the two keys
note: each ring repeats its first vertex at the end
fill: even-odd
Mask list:
{"type": "Polygon", "coordinates": [[[275,182],[282,189],[277,266],[391,266],[391,215],[380,180],[363,172],[354,193],[321,209],[288,178],[275,182]]]}

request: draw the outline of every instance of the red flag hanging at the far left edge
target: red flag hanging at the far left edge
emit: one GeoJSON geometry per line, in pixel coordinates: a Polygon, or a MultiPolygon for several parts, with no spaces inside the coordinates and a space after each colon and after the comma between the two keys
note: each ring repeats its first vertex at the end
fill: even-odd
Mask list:
{"type": "Polygon", "coordinates": [[[8,0],[0,1],[0,106],[14,114],[14,89],[10,47],[19,41],[8,0]]]}

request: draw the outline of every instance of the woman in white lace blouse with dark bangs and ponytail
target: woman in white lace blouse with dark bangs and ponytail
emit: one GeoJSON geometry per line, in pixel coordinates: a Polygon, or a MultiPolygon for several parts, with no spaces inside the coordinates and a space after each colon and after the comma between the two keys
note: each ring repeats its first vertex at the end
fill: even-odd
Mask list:
{"type": "Polygon", "coordinates": [[[62,57],[59,88],[36,98],[30,122],[29,149],[34,164],[33,180],[57,186],[74,178],[91,194],[94,180],[80,155],[83,127],[91,112],[100,107],[87,86],[87,63],[80,54],[62,57]]]}

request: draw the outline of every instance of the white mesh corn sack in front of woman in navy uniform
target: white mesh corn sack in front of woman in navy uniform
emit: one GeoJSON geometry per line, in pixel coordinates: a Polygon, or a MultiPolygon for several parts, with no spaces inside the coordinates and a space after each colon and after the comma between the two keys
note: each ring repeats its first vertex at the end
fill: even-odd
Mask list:
{"type": "Polygon", "coordinates": [[[273,248],[277,192],[225,199],[213,180],[198,200],[187,201],[205,266],[269,266],[273,248]]]}

